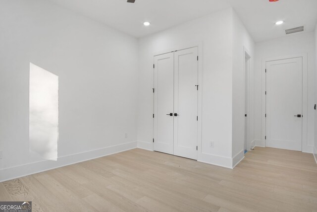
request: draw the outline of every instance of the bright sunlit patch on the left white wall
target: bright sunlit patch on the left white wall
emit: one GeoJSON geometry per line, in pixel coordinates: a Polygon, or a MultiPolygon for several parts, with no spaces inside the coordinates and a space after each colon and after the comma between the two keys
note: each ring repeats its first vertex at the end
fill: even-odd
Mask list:
{"type": "Polygon", "coordinates": [[[30,63],[30,152],[57,160],[58,76],[30,63]]]}

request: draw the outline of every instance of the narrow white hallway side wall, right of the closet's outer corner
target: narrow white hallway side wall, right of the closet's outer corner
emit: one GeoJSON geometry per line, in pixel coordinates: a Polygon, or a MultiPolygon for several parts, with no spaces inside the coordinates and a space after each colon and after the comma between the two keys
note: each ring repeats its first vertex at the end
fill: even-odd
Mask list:
{"type": "MultiPolygon", "coordinates": [[[[244,49],[251,57],[250,72],[254,71],[255,43],[245,26],[233,11],[233,70],[232,70],[232,157],[236,162],[244,156],[245,143],[245,66],[244,49]]],[[[250,89],[251,91],[251,89],[250,89]]],[[[250,100],[251,101],[251,100],[250,100]]],[[[252,113],[249,118],[251,121],[252,113]]],[[[252,124],[249,123],[252,127],[252,124]]],[[[252,130],[251,130],[252,132],[252,130]]],[[[252,138],[252,137],[251,137],[252,138]]]]}

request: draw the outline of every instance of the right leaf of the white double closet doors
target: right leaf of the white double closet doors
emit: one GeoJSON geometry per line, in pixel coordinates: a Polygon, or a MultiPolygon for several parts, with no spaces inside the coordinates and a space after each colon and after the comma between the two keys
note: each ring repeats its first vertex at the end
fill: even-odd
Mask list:
{"type": "Polygon", "coordinates": [[[174,55],[174,155],[197,159],[198,48],[174,55]]]}

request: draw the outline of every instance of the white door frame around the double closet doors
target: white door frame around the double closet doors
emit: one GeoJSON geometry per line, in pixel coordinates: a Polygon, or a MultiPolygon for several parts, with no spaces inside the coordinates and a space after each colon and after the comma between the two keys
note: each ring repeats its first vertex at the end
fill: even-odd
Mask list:
{"type": "MultiPolygon", "coordinates": [[[[198,114],[198,123],[197,123],[197,146],[198,146],[198,150],[197,150],[197,160],[201,160],[202,159],[202,120],[203,120],[203,42],[194,42],[194,43],[190,43],[188,45],[180,45],[180,46],[175,46],[175,47],[171,47],[165,50],[161,50],[161,51],[157,51],[152,53],[152,58],[153,58],[153,64],[154,64],[154,57],[155,56],[159,56],[162,54],[166,54],[169,52],[175,52],[175,51],[180,51],[180,50],[184,50],[184,49],[190,49],[190,48],[194,48],[197,47],[198,48],[198,85],[199,85],[199,89],[198,89],[198,107],[197,107],[197,114],[198,114]]],[[[154,69],[152,68],[153,71],[153,88],[154,88],[154,69]]],[[[153,93],[153,101],[152,101],[152,108],[153,108],[153,113],[154,113],[154,93],[153,93]]],[[[152,116],[152,114],[151,114],[152,116]]],[[[152,137],[154,137],[154,119],[153,119],[153,135],[152,137]]],[[[152,150],[154,150],[154,143],[152,143],[152,150]]]]}

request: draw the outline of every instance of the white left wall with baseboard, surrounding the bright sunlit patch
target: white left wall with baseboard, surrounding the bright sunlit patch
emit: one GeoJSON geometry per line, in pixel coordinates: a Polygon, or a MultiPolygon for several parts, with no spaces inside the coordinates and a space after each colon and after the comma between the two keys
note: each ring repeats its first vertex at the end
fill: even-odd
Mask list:
{"type": "Polygon", "coordinates": [[[0,1],[0,32],[0,181],[136,147],[136,38],[42,0],[0,1]],[[30,62],[59,76],[57,162],[29,153],[30,62]]]}

